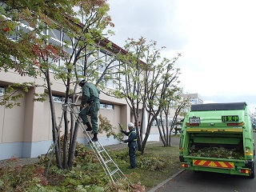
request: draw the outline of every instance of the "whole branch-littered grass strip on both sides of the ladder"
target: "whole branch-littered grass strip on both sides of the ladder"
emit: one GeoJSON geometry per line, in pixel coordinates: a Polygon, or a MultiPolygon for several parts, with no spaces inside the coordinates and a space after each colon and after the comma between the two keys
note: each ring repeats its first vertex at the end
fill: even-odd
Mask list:
{"type": "MultiPolygon", "coordinates": [[[[107,151],[120,170],[126,174],[128,178],[126,182],[130,183],[114,186],[116,188],[111,191],[145,191],[144,186],[147,191],[182,169],[178,160],[178,146],[163,147],[160,143],[147,144],[143,155],[136,152],[137,167],[132,170],[128,169],[130,166],[128,147],[107,151]]],[[[50,166],[47,177],[47,164],[43,162],[26,166],[0,165],[0,191],[94,192],[110,189],[108,187],[112,187],[113,183],[106,179],[106,174],[94,152],[81,144],[77,153],[79,155],[75,158],[72,171],[59,170],[53,165],[50,166]]]]}

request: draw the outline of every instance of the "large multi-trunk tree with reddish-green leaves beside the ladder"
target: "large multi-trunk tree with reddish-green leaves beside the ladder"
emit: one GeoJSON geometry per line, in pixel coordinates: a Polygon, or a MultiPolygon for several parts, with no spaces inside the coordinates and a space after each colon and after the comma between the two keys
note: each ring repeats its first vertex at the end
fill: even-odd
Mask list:
{"type": "MultiPolygon", "coordinates": [[[[61,146],[52,79],[61,79],[64,83],[65,102],[77,101],[76,79],[79,77],[96,82],[95,84],[101,87],[109,79],[109,71],[112,71],[110,63],[115,60],[113,56],[109,61],[105,61],[109,62],[106,66],[102,66],[101,58],[88,60],[91,55],[97,54],[99,44],[106,42],[103,30],[106,26],[113,26],[107,14],[108,10],[106,0],[7,0],[1,6],[0,70],[17,70],[22,75],[31,75],[34,78],[40,76],[45,79],[46,83],[39,86],[45,86],[48,90],[53,140],[56,144],[54,150],[59,168],[72,169],[78,124],[72,121],[72,114],[69,124],[69,115],[65,112],[64,141],[61,146]],[[59,38],[64,41],[54,41],[45,31],[62,34],[59,38]],[[103,71],[98,75],[98,67],[101,66],[103,71]]],[[[111,43],[106,42],[105,46],[110,48],[111,43]]]]}

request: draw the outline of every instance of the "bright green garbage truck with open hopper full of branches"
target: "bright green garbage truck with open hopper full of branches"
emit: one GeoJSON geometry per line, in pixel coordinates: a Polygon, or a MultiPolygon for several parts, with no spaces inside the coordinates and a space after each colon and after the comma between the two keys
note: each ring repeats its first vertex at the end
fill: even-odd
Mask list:
{"type": "Polygon", "coordinates": [[[191,105],[182,123],[182,167],[254,178],[254,158],[254,133],[246,102],[191,105]]]}

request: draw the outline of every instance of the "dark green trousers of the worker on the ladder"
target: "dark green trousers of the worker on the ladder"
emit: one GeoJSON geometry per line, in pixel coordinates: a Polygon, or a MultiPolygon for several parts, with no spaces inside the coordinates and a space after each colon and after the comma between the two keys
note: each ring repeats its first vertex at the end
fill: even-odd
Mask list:
{"type": "Polygon", "coordinates": [[[87,115],[90,115],[90,122],[93,128],[93,134],[98,134],[98,110],[100,107],[99,101],[91,102],[89,107],[85,107],[80,111],[79,116],[82,118],[82,123],[89,122],[87,115]]]}

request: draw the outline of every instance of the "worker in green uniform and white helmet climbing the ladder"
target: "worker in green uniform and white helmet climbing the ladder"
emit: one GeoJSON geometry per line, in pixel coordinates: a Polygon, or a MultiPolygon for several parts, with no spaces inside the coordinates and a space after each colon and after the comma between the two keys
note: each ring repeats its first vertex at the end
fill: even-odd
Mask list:
{"type": "Polygon", "coordinates": [[[99,102],[99,90],[94,84],[86,82],[86,79],[78,79],[79,86],[82,87],[82,110],[79,113],[79,116],[82,118],[82,123],[87,126],[86,131],[93,131],[94,138],[91,140],[93,142],[98,142],[98,110],[100,107],[99,102]],[[86,107],[85,105],[88,104],[86,107]],[[87,115],[90,115],[90,122],[88,121],[87,115]]]}

